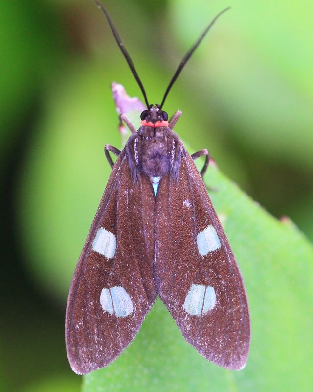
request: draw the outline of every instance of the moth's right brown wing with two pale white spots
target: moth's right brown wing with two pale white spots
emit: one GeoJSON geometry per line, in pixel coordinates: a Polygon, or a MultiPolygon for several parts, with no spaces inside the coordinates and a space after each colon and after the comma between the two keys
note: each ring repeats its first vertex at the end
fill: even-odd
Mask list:
{"type": "Polygon", "coordinates": [[[156,196],[156,281],[185,339],[229,369],[246,364],[250,321],[243,280],[201,176],[187,153],[156,196]]]}

